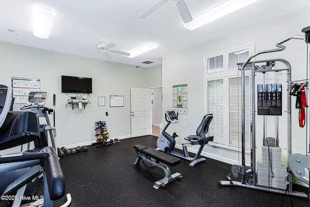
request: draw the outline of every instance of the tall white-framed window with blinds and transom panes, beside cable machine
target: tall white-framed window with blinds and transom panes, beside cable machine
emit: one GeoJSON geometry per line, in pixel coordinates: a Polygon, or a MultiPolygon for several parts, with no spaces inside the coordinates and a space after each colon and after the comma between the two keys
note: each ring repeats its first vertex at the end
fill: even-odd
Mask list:
{"type": "MultiPolygon", "coordinates": [[[[244,63],[253,54],[254,44],[204,56],[204,109],[213,114],[209,126],[209,143],[229,149],[241,146],[241,72],[237,63],[244,63]]],[[[245,78],[245,136],[249,148],[249,77],[245,78]]]]}

